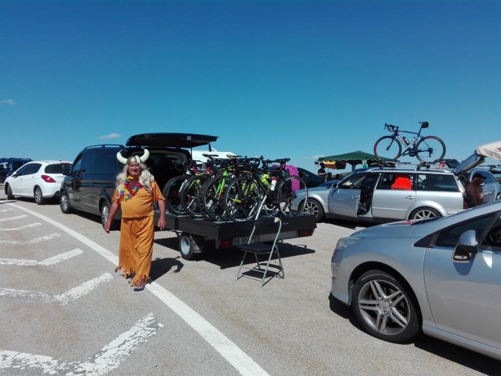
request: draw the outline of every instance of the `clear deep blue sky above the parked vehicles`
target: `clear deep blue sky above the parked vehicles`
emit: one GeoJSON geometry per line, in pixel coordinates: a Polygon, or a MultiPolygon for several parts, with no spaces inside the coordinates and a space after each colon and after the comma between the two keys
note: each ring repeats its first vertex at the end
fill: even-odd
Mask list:
{"type": "Polygon", "coordinates": [[[499,1],[4,0],[0,157],[192,132],[316,170],[429,121],[461,160],[501,139],[500,45],[499,1]]]}

